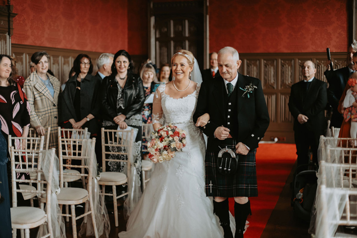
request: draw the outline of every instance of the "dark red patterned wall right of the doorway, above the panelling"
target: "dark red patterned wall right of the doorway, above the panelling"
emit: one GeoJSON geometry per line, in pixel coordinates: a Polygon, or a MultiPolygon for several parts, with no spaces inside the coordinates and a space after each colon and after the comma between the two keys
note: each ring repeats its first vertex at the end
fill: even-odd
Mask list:
{"type": "Polygon", "coordinates": [[[347,0],[210,0],[210,51],[346,51],[347,0]]]}

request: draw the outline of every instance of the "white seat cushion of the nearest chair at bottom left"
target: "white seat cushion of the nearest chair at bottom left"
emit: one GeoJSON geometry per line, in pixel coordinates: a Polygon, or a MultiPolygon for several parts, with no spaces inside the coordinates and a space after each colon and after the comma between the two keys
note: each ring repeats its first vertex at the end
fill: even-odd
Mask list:
{"type": "Polygon", "coordinates": [[[12,207],[10,212],[11,223],[13,224],[32,224],[40,221],[45,216],[44,210],[29,206],[12,207]]]}

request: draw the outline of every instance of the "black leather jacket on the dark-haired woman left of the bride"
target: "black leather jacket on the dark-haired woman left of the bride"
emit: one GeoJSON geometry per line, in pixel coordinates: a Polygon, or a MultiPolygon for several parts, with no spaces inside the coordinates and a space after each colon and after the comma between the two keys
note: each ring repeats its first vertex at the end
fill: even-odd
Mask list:
{"type": "MultiPolygon", "coordinates": [[[[124,109],[121,112],[126,118],[140,114],[145,101],[143,82],[139,75],[127,73],[127,80],[123,88],[124,109]]],[[[118,97],[118,82],[115,75],[104,78],[100,86],[100,101],[103,104],[103,119],[113,121],[118,116],[116,107],[118,97]]]]}

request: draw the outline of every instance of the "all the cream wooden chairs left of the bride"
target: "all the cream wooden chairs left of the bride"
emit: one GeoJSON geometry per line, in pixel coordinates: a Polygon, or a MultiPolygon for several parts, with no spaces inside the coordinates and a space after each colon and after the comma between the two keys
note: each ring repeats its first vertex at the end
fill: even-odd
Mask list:
{"type": "MultiPolygon", "coordinates": [[[[40,161],[41,161],[41,152],[43,147],[48,149],[48,141],[49,141],[49,131],[50,128],[46,129],[45,137],[39,137],[36,135],[34,130],[30,130],[29,138],[13,138],[9,137],[9,148],[12,163],[12,176],[13,176],[13,207],[16,209],[16,193],[21,192],[24,196],[24,199],[33,199],[34,197],[38,197],[39,203],[41,204],[41,211],[43,211],[44,203],[46,203],[46,212],[43,213],[38,211],[38,208],[30,208],[30,210],[36,209],[38,211],[38,215],[33,216],[35,213],[32,213],[32,216],[36,220],[31,224],[25,222],[23,219],[15,219],[15,217],[23,217],[23,214],[12,212],[12,222],[13,222],[13,236],[16,237],[16,229],[24,229],[24,233],[26,237],[29,237],[29,229],[42,224],[43,221],[46,221],[47,224],[49,221],[49,213],[48,204],[50,201],[48,200],[50,196],[48,194],[50,191],[48,190],[48,183],[51,181],[46,181],[43,170],[41,170],[40,161]],[[44,145],[44,140],[46,138],[46,143],[44,145]],[[26,148],[21,149],[20,145],[25,141],[27,145],[26,148]],[[17,157],[16,157],[17,155],[17,157]],[[16,158],[16,159],[15,159],[16,158]],[[16,167],[17,166],[17,167],[16,167]],[[30,173],[30,180],[28,179],[16,179],[16,173],[30,173]],[[28,185],[19,184],[20,189],[16,189],[16,182],[25,182],[29,183],[28,185]],[[33,187],[32,184],[37,184],[37,188],[33,187]],[[43,184],[47,184],[47,188],[44,190],[43,184]],[[13,215],[14,214],[14,215],[13,215]],[[45,215],[46,218],[43,218],[45,215]],[[14,216],[14,219],[13,219],[14,216]],[[40,218],[40,220],[37,220],[40,218]]],[[[128,195],[128,192],[124,194],[120,194],[117,196],[116,194],[116,186],[119,185],[127,185],[127,178],[130,177],[130,166],[128,160],[115,160],[110,154],[114,155],[123,155],[124,157],[130,157],[133,153],[133,138],[134,132],[133,130],[106,130],[104,128],[101,129],[101,146],[102,146],[102,160],[103,160],[103,172],[100,173],[100,176],[97,177],[98,184],[101,186],[101,201],[104,203],[104,196],[113,196],[114,203],[114,217],[115,217],[115,225],[118,226],[118,214],[117,214],[117,199],[128,195]],[[121,137],[118,136],[121,135],[121,137]],[[113,147],[117,147],[120,149],[114,149],[113,147]],[[113,152],[120,151],[120,152],[113,152]],[[119,172],[108,172],[106,171],[106,164],[109,161],[115,160],[116,162],[126,163],[127,173],[119,173],[119,172]],[[113,192],[112,194],[105,192],[105,186],[112,186],[113,192]]],[[[87,129],[62,129],[58,128],[58,155],[59,162],[54,162],[55,164],[59,164],[59,181],[61,192],[57,195],[58,204],[60,205],[60,210],[62,211],[62,206],[66,206],[66,213],[62,214],[63,217],[69,221],[69,217],[72,218],[72,231],[73,237],[77,237],[77,224],[76,221],[82,217],[84,217],[84,222],[87,221],[87,215],[91,215],[92,217],[92,225],[94,230],[94,236],[98,237],[98,233],[96,230],[96,221],[95,216],[93,214],[93,203],[91,199],[92,195],[92,177],[96,177],[97,174],[93,174],[96,171],[96,161],[95,161],[95,138],[91,140],[89,143],[88,140],[88,131],[87,129]],[[86,141],[85,141],[86,140],[86,141]],[[84,146],[84,142],[86,145],[84,146]],[[88,146],[90,145],[90,146],[88,146]],[[90,151],[89,151],[90,147],[90,151]],[[84,151],[86,148],[86,151],[84,151]],[[64,160],[78,160],[79,163],[71,163],[64,164],[64,160]],[[77,165],[74,165],[77,164],[77,165]],[[94,171],[93,171],[94,170],[94,171]],[[82,180],[82,188],[68,188],[68,183],[72,181],[82,180]],[[76,217],[75,215],[75,205],[86,202],[85,204],[85,213],[81,216],[76,217]],[[69,208],[71,209],[71,214],[69,215],[69,208]]],[[[52,153],[55,154],[54,149],[52,149],[52,153]]],[[[55,157],[55,155],[53,155],[55,157]]],[[[114,156],[115,158],[115,156],[114,156]]],[[[142,170],[148,171],[152,167],[151,162],[143,163],[142,170]]],[[[142,182],[143,187],[145,188],[145,175],[142,174],[142,182]]],[[[31,202],[33,206],[33,201],[31,202]]],[[[104,206],[104,204],[101,204],[104,206]]],[[[24,209],[22,209],[25,211],[24,209]]],[[[25,217],[25,216],[24,216],[25,217]]],[[[48,232],[50,232],[50,225],[48,225],[48,232]]],[[[21,231],[22,234],[22,231],[21,231]]],[[[52,236],[52,234],[50,234],[52,236]]],[[[47,236],[44,236],[47,237],[47,236]]]]}

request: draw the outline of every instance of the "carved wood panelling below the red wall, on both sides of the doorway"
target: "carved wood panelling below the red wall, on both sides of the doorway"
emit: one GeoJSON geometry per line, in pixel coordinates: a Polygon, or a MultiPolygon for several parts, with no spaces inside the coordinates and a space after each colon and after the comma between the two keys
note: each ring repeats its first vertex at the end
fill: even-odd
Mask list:
{"type": "MultiPolygon", "coordinates": [[[[100,52],[58,49],[28,45],[12,45],[12,55],[17,59],[18,74],[25,78],[30,74],[31,56],[36,51],[45,50],[50,55],[49,69],[64,83],[73,65],[73,60],[80,53],[92,58],[93,72],[97,71],[95,60],[100,52]]],[[[135,72],[147,56],[132,56],[135,72]]],[[[281,142],[294,143],[293,118],[289,112],[288,102],[290,88],[302,80],[301,66],[304,61],[312,60],[316,64],[316,77],[326,82],[326,54],[324,53],[254,53],[240,54],[242,65],[240,73],[260,78],[270,115],[270,125],[263,140],[270,141],[278,137],[281,142]]],[[[334,68],[345,67],[346,53],[331,53],[334,68]]]]}

